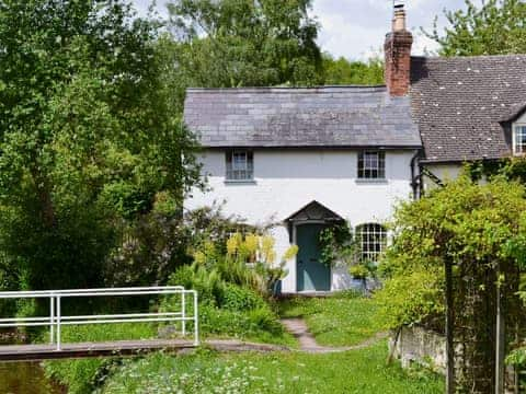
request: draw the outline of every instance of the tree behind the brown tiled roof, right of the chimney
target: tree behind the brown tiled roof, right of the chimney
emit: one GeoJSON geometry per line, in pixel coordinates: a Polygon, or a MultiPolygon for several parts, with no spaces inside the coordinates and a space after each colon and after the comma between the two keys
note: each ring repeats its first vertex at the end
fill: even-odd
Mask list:
{"type": "Polygon", "coordinates": [[[449,26],[441,34],[435,20],[427,37],[441,45],[442,56],[507,55],[526,53],[526,3],[488,0],[478,7],[466,0],[466,11],[444,11],[449,26]]]}

